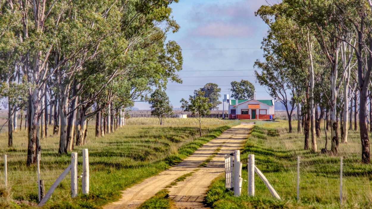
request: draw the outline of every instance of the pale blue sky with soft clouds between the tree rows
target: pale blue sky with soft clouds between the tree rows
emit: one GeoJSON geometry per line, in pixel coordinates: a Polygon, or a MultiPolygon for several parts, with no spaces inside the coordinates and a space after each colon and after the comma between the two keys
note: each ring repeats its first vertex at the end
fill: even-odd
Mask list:
{"type": "MultiPolygon", "coordinates": [[[[271,1],[268,1],[271,4],[271,1]]],[[[231,81],[242,79],[254,84],[257,99],[272,99],[264,87],[256,83],[253,68],[262,60],[261,42],[267,25],[254,16],[265,0],[180,0],[171,4],[174,20],[180,25],[168,40],[182,48],[183,69],[178,73],[183,83],[168,83],[166,93],[174,108],[180,99],[206,83],[216,83],[224,94],[229,94],[231,81]]],[[[230,92],[231,94],[231,92],[230,92]]],[[[146,110],[150,105],[136,102],[134,107],[146,110]]],[[[222,105],[219,106],[222,110],[222,105]]]]}

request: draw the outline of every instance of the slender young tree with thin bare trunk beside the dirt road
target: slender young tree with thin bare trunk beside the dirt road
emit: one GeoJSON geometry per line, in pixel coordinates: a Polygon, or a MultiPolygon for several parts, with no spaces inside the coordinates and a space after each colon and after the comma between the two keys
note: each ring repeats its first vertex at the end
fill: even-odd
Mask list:
{"type": "Polygon", "coordinates": [[[202,122],[201,118],[202,116],[206,116],[211,112],[209,110],[212,107],[212,103],[209,102],[209,99],[207,97],[203,97],[203,92],[198,91],[198,96],[193,97],[190,96],[189,98],[189,104],[186,106],[186,111],[190,111],[192,115],[199,120],[199,134],[202,136],[202,122]]]}

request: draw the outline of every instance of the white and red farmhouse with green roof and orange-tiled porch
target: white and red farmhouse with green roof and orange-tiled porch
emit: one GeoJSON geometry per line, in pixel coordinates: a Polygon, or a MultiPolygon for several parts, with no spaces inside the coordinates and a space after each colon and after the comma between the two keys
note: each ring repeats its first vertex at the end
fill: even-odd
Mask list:
{"type": "Polygon", "coordinates": [[[274,118],[274,100],[256,99],[256,92],[253,99],[231,99],[230,119],[270,119],[274,118]]]}

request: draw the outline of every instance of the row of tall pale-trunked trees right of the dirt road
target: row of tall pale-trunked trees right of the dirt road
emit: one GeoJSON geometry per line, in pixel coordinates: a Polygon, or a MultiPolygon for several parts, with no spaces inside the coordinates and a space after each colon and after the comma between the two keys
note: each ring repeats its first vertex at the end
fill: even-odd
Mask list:
{"type": "MultiPolygon", "coordinates": [[[[360,126],[362,162],[370,162],[371,9],[371,1],[366,0],[283,0],[256,12],[269,26],[262,41],[264,60],[255,63],[262,69],[255,72],[257,81],[286,107],[289,132],[292,112],[295,107],[300,111],[301,106],[305,149],[309,149],[311,137],[311,150],[317,151],[320,120],[325,117],[331,126],[329,152],[338,153],[339,138],[347,142],[354,99],[355,111],[359,106],[355,122],[360,126]]],[[[302,131],[300,120],[298,131],[302,131]]],[[[327,148],[323,151],[328,152],[327,148]]]]}

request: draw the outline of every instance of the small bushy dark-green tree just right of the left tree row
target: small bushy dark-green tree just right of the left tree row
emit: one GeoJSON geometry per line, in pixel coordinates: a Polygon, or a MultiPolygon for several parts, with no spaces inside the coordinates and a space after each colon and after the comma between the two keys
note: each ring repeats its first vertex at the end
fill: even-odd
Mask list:
{"type": "Polygon", "coordinates": [[[163,118],[173,114],[173,106],[170,104],[167,93],[161,89],[156,89],[150,97],[151,115],[158,116],[160,125],[163,125],[163,118]]]}

